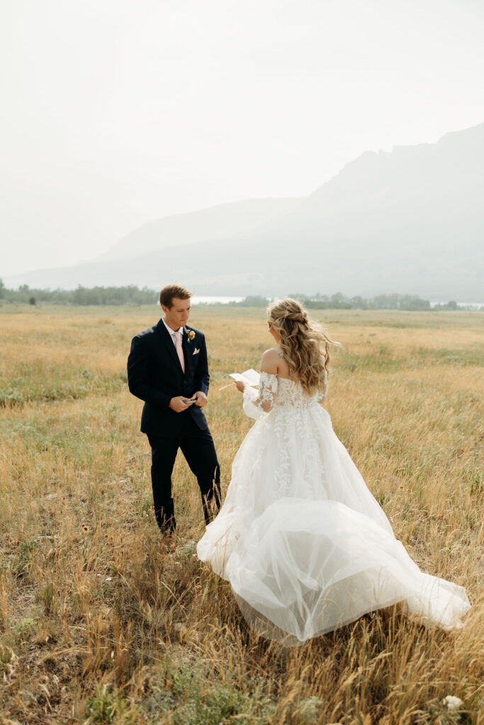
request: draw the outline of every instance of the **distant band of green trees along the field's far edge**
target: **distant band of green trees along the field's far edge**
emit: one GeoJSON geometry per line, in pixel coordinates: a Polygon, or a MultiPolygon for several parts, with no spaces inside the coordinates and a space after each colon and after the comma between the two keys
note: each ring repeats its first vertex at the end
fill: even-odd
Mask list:
{"type": "MultiPolygon", "coordinates": [[[[139,289],[134,284],[123,287],[83,287],[77,289],[34,289],[22,284],[17,289],[8,289],[0,279],[0,303],[17,302],[30,305],[49,303],[51,305],[153,305],[159,292],[147,287],[139,289]]],[[[428,299],[415,294],[377,294],[375,297],[346,297],[336,294],[307,295],[295,292],[289,295],[308,309],[316,310],[475,310],[476,307],[459,307],[455,300],[430,306],[428,299]]],[[[268,297],[250,295],[241,302],[229,302],[230,307],[266,307],[268,297]]],[[[218,303],[222,305],[223,303],[218,303]]],[[[225,306],[225,305],[224,305],[225,306]]],[[[484,310],[483,307],[479,308],[484,310]]]]}

